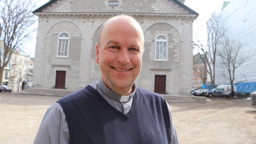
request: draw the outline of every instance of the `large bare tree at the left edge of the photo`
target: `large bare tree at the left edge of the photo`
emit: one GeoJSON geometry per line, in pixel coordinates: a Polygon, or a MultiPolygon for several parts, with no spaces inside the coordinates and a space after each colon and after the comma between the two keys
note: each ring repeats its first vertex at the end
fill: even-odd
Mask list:
{"type": "Polygon", "coordinates": [[[4,49],[0,51],[0,84],[3,72],[16,48],[30,38],[36,17],[32,10],[35,5],[26,0],[0,0],[0,40],[4,49]]]}

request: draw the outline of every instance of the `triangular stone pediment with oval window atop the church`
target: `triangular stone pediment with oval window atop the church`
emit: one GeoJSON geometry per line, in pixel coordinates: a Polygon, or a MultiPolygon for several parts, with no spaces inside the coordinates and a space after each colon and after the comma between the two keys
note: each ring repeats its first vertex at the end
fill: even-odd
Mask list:
{"type": "Polygon", "coordinates": [[[128,13],[139,15],[196,15],[178,0],[51,0],[33,13],[128,13]],[[112,2],[112,3],[110,3],[112,2]],[[117,5],[117,6],[116,6],[117,5]]]}

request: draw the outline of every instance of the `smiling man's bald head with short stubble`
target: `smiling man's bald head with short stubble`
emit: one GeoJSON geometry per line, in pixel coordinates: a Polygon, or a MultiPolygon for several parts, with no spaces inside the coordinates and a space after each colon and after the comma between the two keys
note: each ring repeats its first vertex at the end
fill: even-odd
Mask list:
{"type": "Polygon", "coordinates": [[[96,63],[106,86],[120,95],[132,93],[143,51],[143,31],[134,18],[118,15],[107,20],[96,44],[96,63]]]}

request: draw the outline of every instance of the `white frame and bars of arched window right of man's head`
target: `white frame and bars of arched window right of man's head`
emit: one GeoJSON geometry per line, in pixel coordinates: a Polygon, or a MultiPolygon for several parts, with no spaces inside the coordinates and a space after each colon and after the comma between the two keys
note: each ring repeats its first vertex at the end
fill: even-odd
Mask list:
{"type": "MultiPolygon", "coordinates": [[[[168,61],[168,39],[167,39],[167,36],[165,36],[164,34],[159,34],[156,38],[155,38],[155,60],[156,61],[168,61]],[[158,39],[160,36],[163,36],[165,39],[158,39]],[[158,44],[158,42],[160,43],[160,42],[163,42],[163,56],[164,56],[164,49],[165,49],[165,52],[166,52],[166,55],[165,55],[165,59],[160,59],[160,58],[157,58],[157,56],[158,57],[160,57],[160,54],[158,54],[157,55],[157,49],[159,49],[159,51],[160,51],[160,47],[161,47],[161,45],[160,44],[158,44]],[[166,47],[164,48],[164,43],[166,44],[166,47]],[[158,48],[158,45],[159,45],[159,48],[158,48]]],[[[159,52],[160,53],[160,52],[159,52]]]]}

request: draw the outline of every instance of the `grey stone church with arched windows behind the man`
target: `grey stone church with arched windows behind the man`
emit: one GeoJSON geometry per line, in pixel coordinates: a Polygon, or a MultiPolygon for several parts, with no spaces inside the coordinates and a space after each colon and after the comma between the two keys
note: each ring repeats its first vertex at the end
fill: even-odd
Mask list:
{"type": "Polygon", "coordinates": [[[132,15],[144,31],[143,65],[136,84],[161,94],[192,88],[192,23],[198,13],[178,0],[51,0],[33,11],[38,31],[34,88],[77,90],[100,78],[95,44],[101,25],[132,15]]]}

